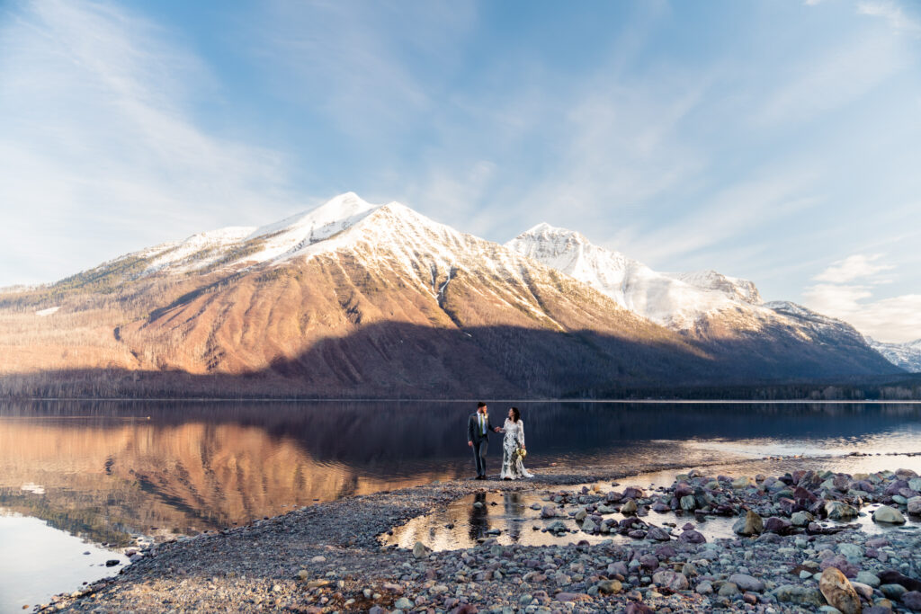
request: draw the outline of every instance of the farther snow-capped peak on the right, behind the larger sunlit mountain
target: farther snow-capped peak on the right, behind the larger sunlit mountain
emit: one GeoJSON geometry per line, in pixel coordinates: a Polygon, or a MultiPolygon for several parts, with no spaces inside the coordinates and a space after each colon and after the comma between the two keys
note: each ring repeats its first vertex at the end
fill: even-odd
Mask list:
{"type": "MultiPolygon", "coordinates": [[[[656,272],[620,252],[591,244],[577,232],[547,224],[534,226],[506,245],[589,284],[644,318],[707,347],[718,344],[720,352],[761,353],[775,347],[764,354],[764,359],[774,360],[769,354],[779,348],[805,342],[800,347],[808,353],[818,346],[837,348],[853,352],[856,360],[880,372],[887,368],[850,324],[795,303],[764,303],[748,280],[715,271],[656,272]]],[[[743,359],[740,354],[739,358],[743,359]]]]}

